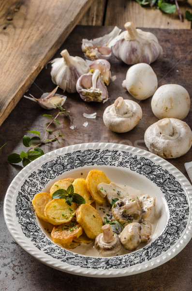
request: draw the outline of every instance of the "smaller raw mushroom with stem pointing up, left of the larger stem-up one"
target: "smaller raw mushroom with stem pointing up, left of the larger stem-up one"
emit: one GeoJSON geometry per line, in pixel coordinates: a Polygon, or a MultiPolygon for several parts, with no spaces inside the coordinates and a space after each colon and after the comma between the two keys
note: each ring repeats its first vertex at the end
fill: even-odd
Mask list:
{"type": "Polygon", "coordinates": [[[142,109],[132,100],[118,97],[103,113],[104,125],[115,132],[127,132],[133,129],[142,117],[142,109]]]}

